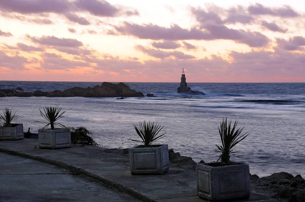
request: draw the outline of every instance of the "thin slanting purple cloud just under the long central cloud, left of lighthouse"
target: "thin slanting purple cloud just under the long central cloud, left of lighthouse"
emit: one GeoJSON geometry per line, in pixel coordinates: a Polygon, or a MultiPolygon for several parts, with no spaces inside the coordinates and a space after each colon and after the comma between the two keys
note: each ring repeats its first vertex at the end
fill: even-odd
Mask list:
{"type": "Polygon", "coordinates": [[[156,50],[156,49],[150,49],[150,48],[145,48],[141,45],[137,45],[135,46],[135,48],[137,50],[142,51],[143,53],[152,56],[152,57],[156,57],[156,58],[167,58],[170,56],[173,56],[177,59],[194,59],[195,57],[193,55],[187,55],[185,53],[182,53],[180,51],[171,51],[171,52],[167,52],[167,51],[161,51],[161,50],[156,50]]]}

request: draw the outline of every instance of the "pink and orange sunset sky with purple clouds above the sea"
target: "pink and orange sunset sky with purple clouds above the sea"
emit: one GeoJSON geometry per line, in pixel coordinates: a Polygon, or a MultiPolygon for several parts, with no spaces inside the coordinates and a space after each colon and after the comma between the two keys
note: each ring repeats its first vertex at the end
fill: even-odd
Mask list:
{"type": "Polygon", "coordinates": [[[0,1],[0,80],[305,82],[305,2],[0,1]]]}

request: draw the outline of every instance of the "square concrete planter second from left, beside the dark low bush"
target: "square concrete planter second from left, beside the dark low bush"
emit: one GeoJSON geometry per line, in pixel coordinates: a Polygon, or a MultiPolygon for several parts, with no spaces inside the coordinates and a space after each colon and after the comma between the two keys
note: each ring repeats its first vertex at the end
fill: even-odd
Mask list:
{"type": "Polygon", "coordinates": [[[39,129],[38,139],[40,148],[69,148],[71,147],[71,132],[69,128],[39,129]]]}

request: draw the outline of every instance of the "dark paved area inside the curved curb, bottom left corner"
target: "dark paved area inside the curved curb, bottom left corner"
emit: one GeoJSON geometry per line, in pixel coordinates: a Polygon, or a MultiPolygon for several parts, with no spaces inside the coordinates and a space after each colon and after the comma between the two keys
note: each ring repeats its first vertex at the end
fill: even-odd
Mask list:
{"type": "Polygon", "coordinates": [[[28,158],[0,153],[0,201],[139,201],[94,180],[28,158]]]}

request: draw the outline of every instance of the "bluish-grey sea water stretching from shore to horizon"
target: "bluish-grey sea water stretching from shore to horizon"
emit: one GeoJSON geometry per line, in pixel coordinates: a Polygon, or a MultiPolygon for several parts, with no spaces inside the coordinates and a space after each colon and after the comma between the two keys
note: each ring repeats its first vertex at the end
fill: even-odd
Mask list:
{"type": "MultiPolygon", "coordinates": [[[[0,89],[22,87],[33,92],[98,84],[0,81],[0,89]]],[[[60,123],[86,127],[96,142],[108,148],[134,146],[128,140],[138,139],[132,124],[157,121],[167,133],[159,143],[197,162],[218,159],[218,126],[225,117],[237,119],[250,135],[234,148],[238,153],[231,160],[247,162],[251,174],[260,177],[281,171],[305,177],[305,83],[188,83],[206,95],[176,93],[179,83],[126,84],[156,97],[2,97],[0,110],[16,110],[24,130],[31,127],[37,132],[45,125],[39,109],[61,107],[66,113],[60,123]]]]}

